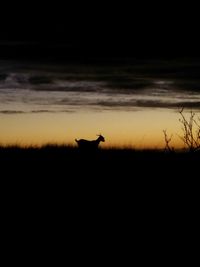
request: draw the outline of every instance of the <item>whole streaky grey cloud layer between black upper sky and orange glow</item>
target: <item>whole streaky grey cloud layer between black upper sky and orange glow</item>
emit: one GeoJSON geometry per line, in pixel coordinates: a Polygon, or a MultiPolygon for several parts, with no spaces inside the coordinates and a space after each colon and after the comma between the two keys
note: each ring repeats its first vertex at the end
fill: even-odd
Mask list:
{"type": "Polygon", "coordinates": [[[75,109],[200,108],[196,60],[112,60],[109,64],[1,62],[2,114],[75,109]],[[13,111],[13,105],[22,105],[13,111]]]}

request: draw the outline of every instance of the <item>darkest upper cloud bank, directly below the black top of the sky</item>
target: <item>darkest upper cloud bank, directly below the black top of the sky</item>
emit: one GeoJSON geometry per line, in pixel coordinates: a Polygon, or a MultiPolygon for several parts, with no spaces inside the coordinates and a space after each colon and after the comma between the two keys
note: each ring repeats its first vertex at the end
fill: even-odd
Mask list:
{"type": "Polygon", "coordinates": [[[0,88],[74,92],[93,92],[108,88],[113,93],[134,93],[155,86],[168,90],[200,90],[200,61],[192,59],[118,59],[111,60],[108,64],[104,61],[99,61],[98,64],[21,65],[11,62],[6,69],[7,72],[5,68],[0,71],[0,88]]]}

